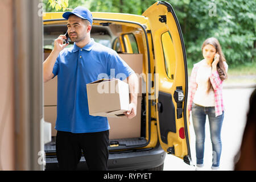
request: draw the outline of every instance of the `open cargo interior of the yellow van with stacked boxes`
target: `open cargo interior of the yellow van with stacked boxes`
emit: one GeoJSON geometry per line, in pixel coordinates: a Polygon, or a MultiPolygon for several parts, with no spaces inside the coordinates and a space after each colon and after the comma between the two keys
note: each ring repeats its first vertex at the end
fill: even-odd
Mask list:
{"type": "MultiPolygon", "coordinates": [[[[44,60],[53,49],[54,40],[61,34],[67,32],[65,23],[45,23],[44,24],[44,60]]],[[[138,46],[138,38],[143,36],[142,28],[125,25],[118,22],[94,22],[91,31],[91,38],[106,47],[113,48],[119,56],[135,71],[138,75],[144,73],[144,55],[138,46]],[[129,46],[122,42],[130,42],[129,46]]],[[[142,38],[141,38],[142,39],[142,38]]],[[[72,46],[70,42],[69,46],[72,46]]],[[[148,144],[146,137],[146,90],[145,77],[139,77],[139,93],[137,104],[137,115],[132,119],[108,118],[109,130],[109,152],[134,151],[135,148],[143,147],[148,144]]],[[[52,125],[52,141],[45,144],[47,157],[56,156],[55,154],[55,121],[57,113],[57,76],[44,83],[44,120],[52,125]]]]}

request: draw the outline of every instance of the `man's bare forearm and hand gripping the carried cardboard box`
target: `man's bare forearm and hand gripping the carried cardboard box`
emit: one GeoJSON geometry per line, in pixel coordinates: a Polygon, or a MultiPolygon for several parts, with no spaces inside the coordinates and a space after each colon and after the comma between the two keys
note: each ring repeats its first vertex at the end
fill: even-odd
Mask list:
{"type": "Polygon", "coordinates": [[[125,114],[127,118],[131,119],[137,114],[137,97],[139,88],[137,75],[133,73],[127,77],[127,83],[129,84],[130,90],[130,104],[129,110],[123,114],[125,114]]]}

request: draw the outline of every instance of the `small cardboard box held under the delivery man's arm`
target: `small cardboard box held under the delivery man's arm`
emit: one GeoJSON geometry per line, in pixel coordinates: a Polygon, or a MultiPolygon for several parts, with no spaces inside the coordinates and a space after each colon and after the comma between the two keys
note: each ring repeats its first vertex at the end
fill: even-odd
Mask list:
{"type": "Polygon", "coordinates": [[[119,79],[101,79],[86,84],[89,114],[123,117],[129,109],[129,85],[119,79]]]}

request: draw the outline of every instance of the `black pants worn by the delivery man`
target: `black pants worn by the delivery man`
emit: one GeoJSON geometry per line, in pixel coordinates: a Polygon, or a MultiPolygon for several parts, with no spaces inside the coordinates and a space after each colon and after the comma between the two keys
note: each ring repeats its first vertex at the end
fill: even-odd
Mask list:
{"type": "Polygon", "coordinates": [[[96,133],[57,131],[56,154],[61,170],[76,170],[82,152],[90,170],[108,170],[109,130],[96,133]]]}

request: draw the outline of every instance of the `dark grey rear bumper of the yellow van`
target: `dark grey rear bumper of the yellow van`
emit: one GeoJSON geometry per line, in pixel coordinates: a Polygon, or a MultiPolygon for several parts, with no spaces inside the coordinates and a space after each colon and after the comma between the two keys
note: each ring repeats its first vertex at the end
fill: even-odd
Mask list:
{"type": "MultiPolygon", "coordinates": [[[[155,168],[164,163],[166,152],[158,145],[147,151],[109,154],[109,170],[143,170],[155,168]]],[[[58,170],[57,158],[46,158],[46,171],[58,170]]],[[[84,156],[77,166],[78,170],[88,170],[84,156]]]]}

